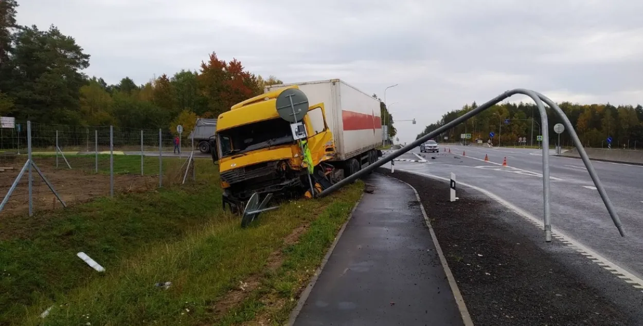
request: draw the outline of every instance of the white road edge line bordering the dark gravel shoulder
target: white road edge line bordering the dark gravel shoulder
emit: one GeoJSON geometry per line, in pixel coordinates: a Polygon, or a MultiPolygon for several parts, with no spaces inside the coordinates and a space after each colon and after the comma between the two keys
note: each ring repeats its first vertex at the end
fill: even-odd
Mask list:
{"type": "MultiPolygon", "coordinates": [[[[443,178],[442,176],[429,175],[427,173],[417,173],[417,172],[413,172],[413,171],[407,171],[407,170],[404,170],[404,169],[400,169],[400,171],[404,171],[406,173],[411,173],[413,175],[427,176],[429,178],[442,180],[442,181],[446,181],[446,182],[450,181],[448,178],[443,178]]],[[[495,200],[496,202],[500,203],[500,205],[503,205],[507,209],[510,209],[514,213],[518,214],[519,216],[522,216],[523,218],[527,219],[527,221],[531,221],[531,222],[536,221],[536,222],[538,222],[539,225],[541,225],[541,223],[542,223],[539,219],[535,218],[534,216],[532,216],[528,212],[525,212],[524,210],[521,210],[520,208],[516,207],[512,203],[507,202],[506,200],[503,200],[502,198],[500,198],[500,196],[498,196],[498,195],[496,195],[494,193],[491,193],[490,191],[487,191],[486,189],[476,187],[475,185],[469,185],[469,184],[466,184],[466,183],[461,182],[461,181],[459,181],[458,184],[464,185],[464,187],[469,187],[471,189],[475,189],[475,190],[479,191],[480,193],[483,193],[483,194],[487,195],[489,198],[491,198],[491,199],[495,200]]],[[[539,227],[539,228],[541,228],[541,227],[539,227]]],[[[581,245],[581,243],[576,241],[574,238],[572,238],[570,236],[567,236],[566,234],[563,234],[563,232],[560,232],[559,230],[556,230],[556,228],[552,227],[552,233],[555,233],[555,234],[557,234],[557,235],[559,235],[561,237],[564,237],[568,243],[571,243],[572,246],[574,246],[574,248],[577,249],[576,250],[577,252],[583,253],[583,255],[585,255],[585,254],[591,255],[592,259],[590,259],[590,261],[593,261],[593,262],[599,261],[599,262],[601,262],[601,266],[604,269],[606,269],[608,271],[617,271],[617,273],[619,273],[620,275],[624,275],[628,279],[632,280],[634,283],[631,283],[630,284],[631,286],[636,287],[637,289],[643,288],[643,280],[639,279],[638,277],[636,277],[632,273],[629,273],[629,271],[624,270],[619,265],[615,264],[614,262],[611,262],[609,259],[607,259],[605,257],[602,257],[601,255],[599,255],[598,253],[594,252],[590,248],[587,248],[586,246],[581,245]]]]}

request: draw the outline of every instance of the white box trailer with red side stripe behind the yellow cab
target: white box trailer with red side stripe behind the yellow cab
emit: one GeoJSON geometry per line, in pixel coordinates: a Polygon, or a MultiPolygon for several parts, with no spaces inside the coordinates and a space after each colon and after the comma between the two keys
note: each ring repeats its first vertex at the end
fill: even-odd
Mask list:
{"type": "Polygon", "coordinates": [[[323,103],[336,147],[334,160],[347,160],[382,144],[379,99],[339,79],[269,85],[264,91],[292,85],[306,94],[309,106],[323,103]]]}

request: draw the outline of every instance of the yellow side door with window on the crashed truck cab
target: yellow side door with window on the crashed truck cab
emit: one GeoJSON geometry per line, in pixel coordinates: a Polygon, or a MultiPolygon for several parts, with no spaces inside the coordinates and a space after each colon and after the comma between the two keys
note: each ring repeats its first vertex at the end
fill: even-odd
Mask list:
{"type": "Polygon", "coordinates": [[[311,150],[312,162],[316,166],[319,162],[329,159],[334,155],[334,144],[332,144],[332,133],[326,123],[326,111],[323,103],[312,105],[304,118],[307,132],[308,148],[311,150]],[[330,146],[328,144],[331,144],[330,146]],[[331,147],[333,151],[326,151],[331,147]],[[327,154],[329,154],[327,156],[327,154]]]}

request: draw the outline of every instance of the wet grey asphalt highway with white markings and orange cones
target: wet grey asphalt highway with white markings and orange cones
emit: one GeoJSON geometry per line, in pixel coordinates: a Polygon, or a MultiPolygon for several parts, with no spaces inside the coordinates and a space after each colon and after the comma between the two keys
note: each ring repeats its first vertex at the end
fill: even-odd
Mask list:
{"type": "MultiPolygon", "coordinates": [[[[448,178],[486,189],[542,221],[542,151],[450,146],[451,153],[422,153],[428,162],[395,162],[395,169],[448,178]],[[462,156],[465,151],[466,155],[462,156]],[[485,162],[488,155],[489,162],[485,162]],[[431,159],[435,157],[435,159],[431,159]],[[502,162],[507,158],[507,165],[502,162]]],[[[413,152],[420,154],[419,149],[413,152]]],[[[643,279],[643,166],[592,162],[626,230],[617,229],[579,159],[550,151],[552,227],[611,263],[643,279]]],[[[406,153],[398,159],[417,160],[406,153]]],[[[390,164],[385,167],[390,168],[390,164]]],[[[544,235],[543,235],[544,241],[544,235]]]]}

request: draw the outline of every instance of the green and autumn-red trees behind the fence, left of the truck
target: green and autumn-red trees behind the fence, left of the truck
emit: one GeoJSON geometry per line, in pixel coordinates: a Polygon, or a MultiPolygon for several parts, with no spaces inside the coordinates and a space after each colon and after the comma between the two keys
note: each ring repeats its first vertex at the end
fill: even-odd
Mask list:
{"type": "Polygon", "coordinates": [[[0,116],[17,121],[170,131],[182,124],[189,132],[197,117],[217,117],[265,85],[283,83],[212,53],[194,71],[109,85],[83,73],[90,56],[73,37],[53,25],[19,26],[17,8],[16,0],[0,1],[0,116]]]}

